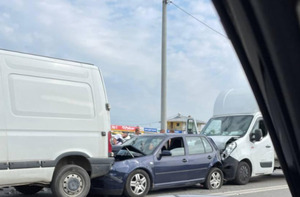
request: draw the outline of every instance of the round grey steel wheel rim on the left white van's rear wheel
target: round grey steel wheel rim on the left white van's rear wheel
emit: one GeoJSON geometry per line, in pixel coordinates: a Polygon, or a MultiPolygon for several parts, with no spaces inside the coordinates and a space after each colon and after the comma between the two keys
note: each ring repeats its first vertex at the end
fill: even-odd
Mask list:
{"type": "Polygon", "coordinates": [[[83,190],[82,178],[77,174],[69,174],[64,179],[63,188],[68,195],[80,194],[83,190]]]}

